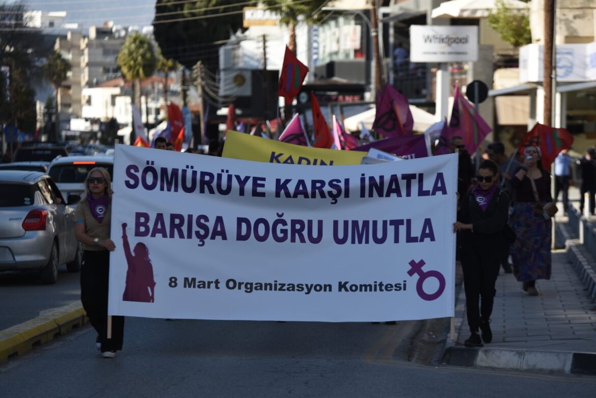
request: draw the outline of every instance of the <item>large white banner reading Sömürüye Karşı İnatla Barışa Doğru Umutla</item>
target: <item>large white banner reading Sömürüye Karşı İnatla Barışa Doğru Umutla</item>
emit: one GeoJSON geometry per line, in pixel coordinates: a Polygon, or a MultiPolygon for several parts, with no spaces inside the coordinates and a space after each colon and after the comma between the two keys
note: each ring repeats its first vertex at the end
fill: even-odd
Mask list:
{"type": "Polygon", "coordinates": [[[454,314],[455,154],[324,167],[117,145],[113,190],[110,315],[454,314]]]}

